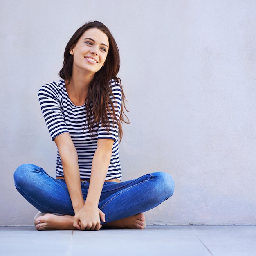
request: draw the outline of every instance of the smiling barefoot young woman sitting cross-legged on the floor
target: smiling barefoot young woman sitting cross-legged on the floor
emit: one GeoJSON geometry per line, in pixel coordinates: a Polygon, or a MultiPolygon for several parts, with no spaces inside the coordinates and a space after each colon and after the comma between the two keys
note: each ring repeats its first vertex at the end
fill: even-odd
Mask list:
{"type": "Polygon", "coordinates": [[[56,179],[32,164],[14,173],[17,190],[40,211],[36,229],[143,229],[143,212],[173,195],[167,173],[120,182],[126,115],[119,67],[108,28],[88,22],[67,43],[62,79],[40,88],[40,107],[58,148],[56,179]]]}

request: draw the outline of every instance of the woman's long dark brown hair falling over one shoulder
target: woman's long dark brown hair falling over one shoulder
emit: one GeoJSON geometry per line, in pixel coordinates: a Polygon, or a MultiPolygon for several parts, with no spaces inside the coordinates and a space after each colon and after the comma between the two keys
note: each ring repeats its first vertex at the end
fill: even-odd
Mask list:
{"type": "Polygon", "coordinates": [[[59,76],[67,81],[67,84],[70,83],[72,76],[72,66],[73,66],[73,55],[70,54],[70,49],[76,45],[79,38],[83,35],[88,29],[97,28],[108,36],[109,50],[108,55],[105,61],[105,64],[101,69],[95,73],[94,78],[92,79],[89,88],[88,95],[85,99],[85,111],[87,116],[87,123],[89,130],[92,131],[94,124],[99,124],[102,121],[102,124],[108,132],[110,131],[110,120],[108,118],[108,112],[111,114],[111,119],[118,124],[119,128],[119,138],[122,139],[123,130],[122,123],[129,123],[128,117],[124,114],[126,98],[121,86],[122,92],[122,105],[121,105],[121,114],[120,121],[118,121],[115,111],[114,104],[109,99],[110,95],[114,97],[112,90],[109,86],[111,79],[114,79],[121,85],[121,80],[117,77],[117,73],[120,69],[120,55],[117,43],[115,42],[114,37],[112,36],[110,30],[101,22],[87,22],[82,27],[77,29],[74,35],[70,38],[64,52],[64,61],[63,67],[59,72],[59,76]]]}

